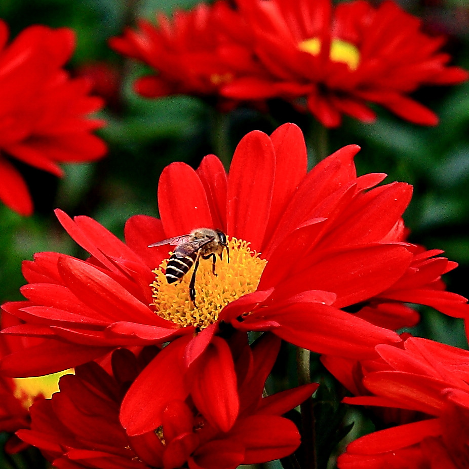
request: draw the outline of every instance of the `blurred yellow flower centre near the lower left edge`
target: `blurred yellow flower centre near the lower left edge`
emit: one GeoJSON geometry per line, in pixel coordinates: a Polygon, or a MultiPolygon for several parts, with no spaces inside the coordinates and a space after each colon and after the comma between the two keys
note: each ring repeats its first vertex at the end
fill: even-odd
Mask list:
{"type": "Polygon", "coordinates": [[[45,376],[35,376],[32,378],[14,378],[16,384],[14,396],[19,399],[26,409],[34,402],[34,398],[43,395],[50,399],[59,390],[59,379],[63,375],[75,374],[73,368],[59,371],[45,376]]]}

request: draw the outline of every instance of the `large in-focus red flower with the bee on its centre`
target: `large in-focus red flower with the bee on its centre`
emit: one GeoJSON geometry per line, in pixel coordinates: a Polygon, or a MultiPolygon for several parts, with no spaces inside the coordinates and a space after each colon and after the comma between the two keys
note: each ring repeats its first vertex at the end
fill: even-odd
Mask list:
{"type": "Polygon", "coordinates": [[[45,341],[5,358],[2,369],[51,373],[118,346],[196,334],[185,353],[190,364],[226,325],[363,359],[375,356],[375,345],[401,340],[379,326],[417,321],[403,302],[467,317],[466,299],[442,290],[440,276],[453,263],[403,240],[411,187],[374,187],[383,174],[357,177],[358,150],[344,147],[307,173],[301,131],[286,124],[270,137],[255,131],[243,138],[228,175],[214,155],[197,171],[173,163],[159,183],[161,220],[130,218],[126,243],[91,218],[57,211],[92,257],[49,252],[24,262],[27,300],[3,308],[26,324],[5,332],[45,341]],[[165,279],[171,246],[148,245],[202,226],[227,234],[229,263],[218,261],[215,276],[212,261],[201,260],[194,305],[190,273],[177,284],[165,279]],[[341,309],[348,307],[358,312],[341,309]]]}

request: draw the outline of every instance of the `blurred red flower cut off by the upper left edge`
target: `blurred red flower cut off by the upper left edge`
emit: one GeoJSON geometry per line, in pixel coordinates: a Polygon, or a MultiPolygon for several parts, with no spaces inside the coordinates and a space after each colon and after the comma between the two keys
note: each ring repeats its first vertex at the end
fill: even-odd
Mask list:
{"type": "Polygon", "coordinates": [[[12,159],[61,176],[58,162],[101,158],[106,146],[91,131],[104,123],[89,114],[102,100],[63,68],[74,49],[72,30],[31,26],[7,40],[0,20],[0,200],[30,215],[32,201],[12,159]]]}

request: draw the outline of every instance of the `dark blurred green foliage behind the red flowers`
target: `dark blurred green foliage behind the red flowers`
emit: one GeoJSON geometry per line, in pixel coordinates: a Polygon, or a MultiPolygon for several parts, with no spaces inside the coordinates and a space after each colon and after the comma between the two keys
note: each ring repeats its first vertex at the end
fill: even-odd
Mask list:
{"type": "MultiPolygon", "coordinates": [[[[107,47],[135,18],[154,19],[154,12],[189,8],[194,0],[2,0],[0,17],[12,36],[31,24],[68,26],[75,30],[77,48],[69,64],[107,61],[123,79],[118,102],[101,115],[108,126],[100,135],[109,145],[108,157],[95,164],[65,166],[66,177],[24,168],[35,201],[35,213],[22,218],[0,206],[0,301],[19,300],[24,284],[21,261],[39,251],[85,256],[53,215],[60,207],[69,215],[89,215],[123,236],[127,218],[134,214],[157,216],[157,186],[162,169],[172,161],[197,167],[205,154],[229,160],[234,147],[254,129],[272,132],[284,122],[295,122],[305,133],[314,164],[318,129],[308,115],[299,115],[282,103],[272,104],[272,115],[238,109],[228,116],[214,112],[190,97],[147,100],[132,92],[131,83],[145,68],[122,59],[107,47]]],[[[450,34],[447,50],[454,63],[469,68],[469,7],[465,0],[406,2],[404,8],[450,34]]],[[[421,90],[418,99],[441,118],[435,128],[421,128],[378,111],[375,124],[345,119],[329,131],[328,153],[349,143],[362,147],[356,163],[359,173],[385,172],[387,182],[414,185],[414,197],[405,220],[411,241],[444,249],[460,266],[445,276],[448,289],[469,296],[469,84],[421,90]]],[[[0,182],[1,183],[1,182],[0,182]]],[[[413,333],[467,348],[461,322],[432,310],[413,333]]],[[[283,369],[288,369],[288,363],[283,369]]],[[[279,373],[280,376],[280,373],[279,373]]],[[[271,467],[279,467],[272,463],[271,467]]],[[[0,461],[0,465],[1,461],[0,461]]]]}

